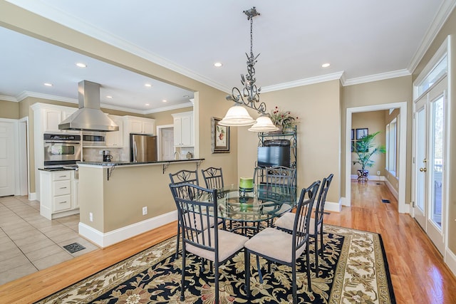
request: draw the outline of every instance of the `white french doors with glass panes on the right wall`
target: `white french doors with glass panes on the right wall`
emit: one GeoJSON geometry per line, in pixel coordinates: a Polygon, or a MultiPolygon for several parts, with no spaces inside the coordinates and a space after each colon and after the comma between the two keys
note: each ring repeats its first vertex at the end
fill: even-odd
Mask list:
{"type": "Polygon", "coordinates": [[[413,214],[440,253],[445,250],[447,77],[414,104],[415,204],[413,214]]]}

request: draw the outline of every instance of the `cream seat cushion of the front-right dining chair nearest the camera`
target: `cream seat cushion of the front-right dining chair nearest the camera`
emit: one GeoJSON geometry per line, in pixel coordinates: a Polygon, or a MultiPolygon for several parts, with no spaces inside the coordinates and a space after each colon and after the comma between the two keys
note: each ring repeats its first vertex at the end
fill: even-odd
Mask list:
{"type": "MultiPolygon", "coordinates": [[[[293,236],[291,234],[268,227],[252,236],[252,239],[249,239],[244,244],[244,247],[249,249],[249,251],[259,253],[261,256],[291,263],[292,241],[293,236]]],[[[296,258],[301,256],[305,249],[306,245],[304,244],[296,251],[296,258]]]]}

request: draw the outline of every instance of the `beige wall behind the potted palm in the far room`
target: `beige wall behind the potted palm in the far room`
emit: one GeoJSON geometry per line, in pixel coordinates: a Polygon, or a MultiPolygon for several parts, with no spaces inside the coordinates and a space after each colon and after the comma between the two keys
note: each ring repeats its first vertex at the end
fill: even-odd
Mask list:
{"type": "MultiPolygon", "coordinates": [[[[361,128],[368,128],[369,134],[373,134],[375,132],[380,132],[375,137],[373,142],[374,145],[385,145],[385,112],[384,110],[381,111],[372,111],[372,112],[359,112],[353,113],[351,117],[351,127],[352,129],[361,129],[361,128]]],[[[356,134],[355,134],[356,138],[356,134]]],[[[358,158],[356,153],[351,154],[351,160],[354,161],[358,158]]],[[[377,175],[377,171],[380,171],[381,176],[385,176],[385,154],[375,154],[371,157],[371,159],[375,162],[373,167],[366,168],[369,170],[369,175],[377,175]]],[[[353,164],[351,163],[351,175],[357,175],[358,169],[361,169],[360,164],[353,164]]]]}

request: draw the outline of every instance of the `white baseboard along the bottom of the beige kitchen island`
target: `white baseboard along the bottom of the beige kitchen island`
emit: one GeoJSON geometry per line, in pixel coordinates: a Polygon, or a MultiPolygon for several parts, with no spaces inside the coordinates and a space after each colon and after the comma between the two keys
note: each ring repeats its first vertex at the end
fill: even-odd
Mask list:
{"type": "Polygon", "coordinates": [[[101,248],[104,248],[120,241],[130,239],[133,236],[138,236],[138,234],[143,234],[146,231],[150,231],[172,221],[177,221],[177,211],[155,216],[152,219],[146,219],[145,221],[140,221],[139,223],[135,223],[130,226],[125,226],[120,229],[109,231],[105,234],[94,229],[93,227],[80,222],[79,234],[81,234],[81,236],[88,239],[89,241],[92,241],[96,245],[100,246],[101,248]]]}

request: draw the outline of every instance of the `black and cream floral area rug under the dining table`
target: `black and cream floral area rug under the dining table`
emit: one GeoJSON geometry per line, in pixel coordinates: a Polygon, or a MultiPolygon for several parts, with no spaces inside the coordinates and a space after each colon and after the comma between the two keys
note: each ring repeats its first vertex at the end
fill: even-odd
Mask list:
{"type": "MultiPolygon", "coordinates": [[[[314,241],[309,246],[312,291],[307,289],[305,254],[300,258],[298,302],[395,303],[381,236],[330,225],[324,232],[318,276],[314,241]]],[[[185,301],[180,301],[182,256],[175,258],[175,248],[176,238],[163,241],[38,303],[214,303],[212,269],[192,255],[187,256],[185,301]]],[[[220,267],[220,303],[292,303],[291,269],[272,264],[268,273],[266,261],[260,259],[260,283],[254,259],[252,255],[250,299],[244,291],[244,253],[220,267]]]]}

